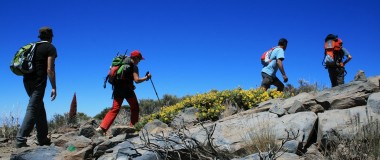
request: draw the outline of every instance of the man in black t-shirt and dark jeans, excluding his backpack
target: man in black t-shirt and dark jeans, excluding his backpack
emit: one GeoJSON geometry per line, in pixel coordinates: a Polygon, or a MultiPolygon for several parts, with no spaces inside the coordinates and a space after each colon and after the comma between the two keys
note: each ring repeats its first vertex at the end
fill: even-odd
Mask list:
{"type": "Polygon", "coordinates": [[[49,77],[52,87],[51,100],[57,96],[55,83],[55,58],[57,58],[57,50],[52,45],[53,30],[49,27],[42,27],[39,30],[41,42],[36,47],[33,58],[34,72],[24,75],[24,87],[29,96],[29,104],[26,109],[25,117],[21,128],[18,130],[16,137],[16,147],[27,147],[28,136],[32,132],[34,125],[37,129],[37,141],[39,145],[50,145],[48,135],[48,123],[46,119],[46,111],[43,102],[47,77],[49,77]]]}

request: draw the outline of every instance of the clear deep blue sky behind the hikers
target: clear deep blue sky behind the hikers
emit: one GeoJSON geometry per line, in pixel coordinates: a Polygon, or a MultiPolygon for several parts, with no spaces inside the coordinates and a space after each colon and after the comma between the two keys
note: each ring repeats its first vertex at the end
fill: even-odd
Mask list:
{"type": "MultiPolygon", "coordinates": [[[[379,6],[378,0],[1,0],[0,112],[25,114],[29,98],[9,64],[22,45],[38,40],[41,26],[53,28],[58,51],[57,99],[50,101],[50,84],[45,94],[50,119],[69,111],[74,92],[79,112],[94,116],[110,107],[112,91],[103,81],[116,52],[126,49],[142,52],[140,75],[152,73],[160,98],[257,88],[259,57],[282,37],[289,41],[284,66],[294,86],[300,79],[330,86],[321,65],[329,33],[352,54],[346,82],[360,69],[379,75],[379,6]]],[[[150,82],[136,93],[157,99],[150,82]]]]}

